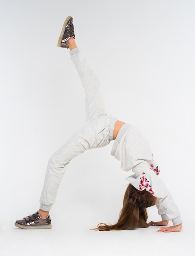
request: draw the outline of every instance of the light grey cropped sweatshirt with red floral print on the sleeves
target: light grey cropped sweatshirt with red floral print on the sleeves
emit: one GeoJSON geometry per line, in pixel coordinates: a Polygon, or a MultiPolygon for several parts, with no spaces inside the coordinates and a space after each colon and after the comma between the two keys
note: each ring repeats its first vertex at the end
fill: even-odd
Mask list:
{"type": "Polygon", "coordinates": [[[136,189],[146,189],[157,197],[158,213],[162,220],[172,220],[173,225],[182,223],[170,192],[159,178],[159,167],[154,161],[153,153],[147,139],[138,128],[124,124],[112,146],[111,155],[121,161],[121,170],[133,171],[126,179],[136,189]]]}

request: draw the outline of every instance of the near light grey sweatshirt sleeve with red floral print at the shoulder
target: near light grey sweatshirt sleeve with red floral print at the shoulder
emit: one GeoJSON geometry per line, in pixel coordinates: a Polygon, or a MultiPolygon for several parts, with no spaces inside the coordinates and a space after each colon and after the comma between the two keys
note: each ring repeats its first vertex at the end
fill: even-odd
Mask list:
{"type": "Polygon", "coordinates": [[[177,226],[182,223],[180,218],[179,209],[177,208],[173,197],[168,191],[165,184],[155,174],[154,171],[145,168],[140,175],[131,175],[126,178],[136,189],[144,190],[152,193],[155,197],[159,198],[157,205],[158,213],[161,215],[162,220],[172,220],[173,225],[177,226]]]}

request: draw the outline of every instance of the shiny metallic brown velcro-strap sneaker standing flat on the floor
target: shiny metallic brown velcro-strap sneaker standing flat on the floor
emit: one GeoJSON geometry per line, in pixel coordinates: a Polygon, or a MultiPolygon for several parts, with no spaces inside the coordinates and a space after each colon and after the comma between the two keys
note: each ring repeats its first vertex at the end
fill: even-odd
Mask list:
{"type": "Polygon", "coordinates": [[[52,222],[50,216],[44,219],[36,212],[23,218],[23,220],[16,220],[15,226],[20,229],[51,229],[52,222]]]}

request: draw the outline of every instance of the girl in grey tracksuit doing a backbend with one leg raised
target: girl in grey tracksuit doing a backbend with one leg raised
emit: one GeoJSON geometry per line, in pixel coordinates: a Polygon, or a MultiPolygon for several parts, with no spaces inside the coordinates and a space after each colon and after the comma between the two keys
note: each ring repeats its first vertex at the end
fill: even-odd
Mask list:
{"type": "Polygon", "coordinates": [[[181,231],[182,220],[179,210],[168,189],[158,177],[160,170],[153,159],[148,141],[133,125],[106,114],[99,92],[99,81],[75,43],[72,22],[71,16],[65,20],[58,47],[70,49],[72,62],[86,94],[87,121],[85,126],[49,159],[40,196],[40,209],[23,220],[17,220],[15,225],[22,229],[51,228],[49,211],[55,202],[58,187],[69,162],[87,149],[103,147],[114,140],[111,155],[121,161],[123,171],[132,169],[134,175],[127,177],[130,184],[126,189],[123,208],[117,223],[114,225],[101,223],[96,229],[132,230],[149,225],[167,226],[169,220],[172,220],[173,226],[161,227],[158,232],[181,231]],[[146,208],[155,204],[162,221],[147,224],[146,208]]]}

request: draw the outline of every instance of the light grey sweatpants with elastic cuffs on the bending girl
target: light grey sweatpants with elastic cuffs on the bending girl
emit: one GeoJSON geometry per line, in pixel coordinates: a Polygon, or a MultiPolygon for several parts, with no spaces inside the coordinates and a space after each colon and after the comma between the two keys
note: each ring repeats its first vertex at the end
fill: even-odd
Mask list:
{"type": "Polygon", "coordinates": [[[49,159],[40,209],[49,211],[55,202],[60,182],[69,162],[85,150],[106,146],[113,140],[116,118],[105,113],[104,102],[99,91],[99,80],[93,74],[78,48],[70,51],[72,62],[81,78],[85,90],[86,124],[73,135],[49,159]]]}

